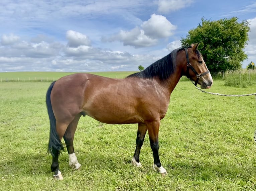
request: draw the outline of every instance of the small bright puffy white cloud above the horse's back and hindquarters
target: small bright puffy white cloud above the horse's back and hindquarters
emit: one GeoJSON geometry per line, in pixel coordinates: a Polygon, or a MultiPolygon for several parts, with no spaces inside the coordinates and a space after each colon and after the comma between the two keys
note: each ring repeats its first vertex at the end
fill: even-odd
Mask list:
{"type": "Polygon", "coordinates": [[[79,47],[80,45],[91,45],[91,40],[84,34],[69,30],[66,37],[68,39],[69,47],[79,47]]]}

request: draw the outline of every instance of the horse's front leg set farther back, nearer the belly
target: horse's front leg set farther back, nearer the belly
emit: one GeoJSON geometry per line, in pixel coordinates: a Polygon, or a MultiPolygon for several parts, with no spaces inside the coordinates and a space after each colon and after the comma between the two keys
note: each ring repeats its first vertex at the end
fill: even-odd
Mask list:
{"type": "Polygon", "coordinates": [[[140,149],[143,145],[145,134],[147,132],[147,126],[143,123],[138,124],[137,138],[136,138],[136,149],[132,159],[133,166],[141,167],[140,163],[140,149]]]}

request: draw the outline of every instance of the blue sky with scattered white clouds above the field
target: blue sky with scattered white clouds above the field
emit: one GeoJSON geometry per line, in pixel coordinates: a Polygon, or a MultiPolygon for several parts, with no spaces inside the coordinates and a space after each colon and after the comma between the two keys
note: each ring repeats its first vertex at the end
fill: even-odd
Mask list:
{"type": "Polygon", "coordinates": [[[256,63],[255,0],[1,0],[0,72],[138,71],[202,17],[250,21],[242,68],[256,63]]]}

